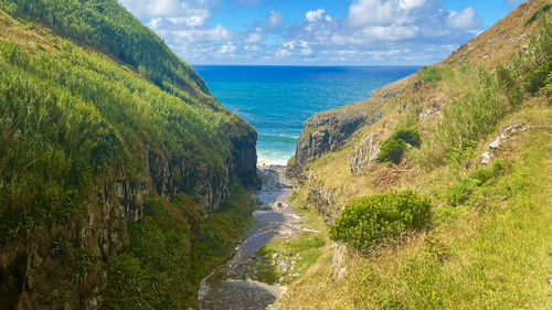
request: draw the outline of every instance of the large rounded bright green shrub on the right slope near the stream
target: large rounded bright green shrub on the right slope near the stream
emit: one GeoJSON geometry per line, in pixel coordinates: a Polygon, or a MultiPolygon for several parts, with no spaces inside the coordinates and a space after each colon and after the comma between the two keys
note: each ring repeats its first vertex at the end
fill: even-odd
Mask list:
{"type": "Polygon", "coordinates": [[[431,218],[429,201],[413,191],[357,197],[336,220],[331,238],[355,248],[368,248],[405,229],[422,229],[431,218]]]}

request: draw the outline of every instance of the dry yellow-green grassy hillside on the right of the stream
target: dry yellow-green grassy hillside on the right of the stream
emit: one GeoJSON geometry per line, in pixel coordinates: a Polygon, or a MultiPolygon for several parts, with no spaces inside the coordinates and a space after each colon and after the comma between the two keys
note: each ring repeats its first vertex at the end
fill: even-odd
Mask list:
{"type": "Polygon", "coordinates": [[[278,307],[552,307],[550,7],[528,1],[421,68],[381,120],[307,168],[294,203],[321,211],[331,234],[320,235],[340,245],[326,246],[278,307]],[[421,145],[404,132],[420,132],[421,145]],[[379,154],[353,171],[362,148],[379,154]],[[429,225],[402,224],[407,214],[374,203],[402,190],[429,200],[429,225]]]}

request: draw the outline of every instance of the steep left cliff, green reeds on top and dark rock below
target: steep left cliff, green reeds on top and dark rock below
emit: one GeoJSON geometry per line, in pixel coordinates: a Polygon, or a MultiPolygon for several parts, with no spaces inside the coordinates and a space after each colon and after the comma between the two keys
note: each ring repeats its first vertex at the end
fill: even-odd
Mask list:
{"type": "Polygon", "coordinates": [[[117,1],[0,9],[0,308],[99,309],[145,202],[185,194],[203,223],[259,185],[257,135],[117,1]]]}

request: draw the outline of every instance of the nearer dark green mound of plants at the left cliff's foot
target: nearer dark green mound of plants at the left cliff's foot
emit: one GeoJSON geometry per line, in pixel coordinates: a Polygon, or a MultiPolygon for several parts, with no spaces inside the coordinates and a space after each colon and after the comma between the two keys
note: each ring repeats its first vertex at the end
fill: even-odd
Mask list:
{"type": "Polygon", "coordinates": [[[184,209],[195,206],[161,199],[144,205],[144,220],[129,227],[128,249],[109,260],[105,309],[183,308],[191,285],[191,232],[184,209]]]}

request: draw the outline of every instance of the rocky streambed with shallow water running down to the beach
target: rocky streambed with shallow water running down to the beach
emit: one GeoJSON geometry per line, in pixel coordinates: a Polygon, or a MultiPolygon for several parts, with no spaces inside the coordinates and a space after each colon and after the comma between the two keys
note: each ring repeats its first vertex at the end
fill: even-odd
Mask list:
{"type": "Polygon", "coordinates": [[[258,170],[263,188],[257,197],[263,206],[253,213],[253,227],[232,258],[201,281],[198,297],[202,310],[265,309],[285,290],[284,286],[255,280],[256,266],[263,260],[257,250],[275,238],[300,237],[304,218],[288,204],[291,186],[285,177],[286,167],[263,165],[258,170]]]}

